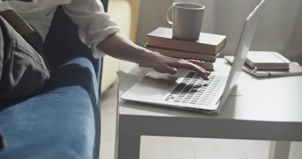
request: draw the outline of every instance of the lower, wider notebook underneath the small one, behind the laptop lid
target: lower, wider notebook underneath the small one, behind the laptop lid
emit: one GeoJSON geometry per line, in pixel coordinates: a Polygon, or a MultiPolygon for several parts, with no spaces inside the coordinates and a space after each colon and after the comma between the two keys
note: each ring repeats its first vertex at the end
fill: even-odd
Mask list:
{"type": "MultiPolygon", "coordinates": [[[[224,59],[232,64],[234,61],[233,56],[225,56],[224,59]]],[[[253,74],[258,77],[266,77],[266,76],[284,76],[284,75],[302,75],[302,66],[300,66],[297,62],[289,63],[288,70],[256,70],[249,67],[245,64],[242,68],[243,71],[253,74]]]]}

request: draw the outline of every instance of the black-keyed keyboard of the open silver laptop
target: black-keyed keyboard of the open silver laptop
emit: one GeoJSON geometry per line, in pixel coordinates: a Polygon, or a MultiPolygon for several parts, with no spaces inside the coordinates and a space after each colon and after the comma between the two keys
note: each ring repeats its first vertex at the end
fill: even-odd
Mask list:
{"type": "Polygon", "coordinates": [[[209,105],[222,89],[227,77],[227,75],[210,74],[209,80],[206,81],[196,72],[189,72],[165,100],[209,105]]]}

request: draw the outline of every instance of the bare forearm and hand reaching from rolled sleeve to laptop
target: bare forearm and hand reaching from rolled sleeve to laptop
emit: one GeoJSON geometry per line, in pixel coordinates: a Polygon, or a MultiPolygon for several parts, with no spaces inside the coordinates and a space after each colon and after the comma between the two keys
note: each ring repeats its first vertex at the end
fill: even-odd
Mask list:
{"type": "Polygon", "coordinates": [[[99,51],[120,60],[152,66],[158,72],[175,74],[178,68],[185,68],[196,71],[205,80],[208,80],[209,72],[197,66],[202,65],[203,62],[163,56],[159,52],[150,51],[134,44],[120,33],[106,37],[97,45],[97,48],[99,51]]]}

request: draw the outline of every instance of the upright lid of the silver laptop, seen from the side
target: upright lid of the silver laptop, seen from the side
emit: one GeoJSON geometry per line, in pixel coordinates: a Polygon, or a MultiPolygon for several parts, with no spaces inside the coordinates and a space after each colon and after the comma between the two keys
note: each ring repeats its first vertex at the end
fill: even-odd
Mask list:
{"type": "MultiPolygon", "coordinates": [[[[227,80],[224,93],[220,100],[219,109],[221,109],[224,103],[226,102],[230,92],[232,91],[241,73],[242,67],[245,63],[247,52],[249,51],[250,45],[254,37],[254,33],[258,25],[258,20],[260,19],[260,13],[263,8],[264,2],[265,0],[262,0],[261,3],[254,9],[254,11],[250,13],[250,15],[246,18],[241,37],[235,52],[233,66],[230,70],[229,78],[227,80]]],[[[218,110],[218,113],[219,111],[220,110],[218,110]]]]}

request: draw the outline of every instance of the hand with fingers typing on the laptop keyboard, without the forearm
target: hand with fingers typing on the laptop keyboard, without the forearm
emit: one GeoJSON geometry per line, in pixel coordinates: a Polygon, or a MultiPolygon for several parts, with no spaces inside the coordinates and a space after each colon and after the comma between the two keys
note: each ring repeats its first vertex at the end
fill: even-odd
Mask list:
{"type": "Polygon", "coordinates": [[[145,63],[152,66],[156,71],[161,73],[177,73],[178,68],[185,68],[197,72],[204,80],[208,80],[208,71],[200,67],[204,62],[198,60],[183,60],[166,57],[159,52],[142,49],[143,55],[146,55],[145,63]]]}

